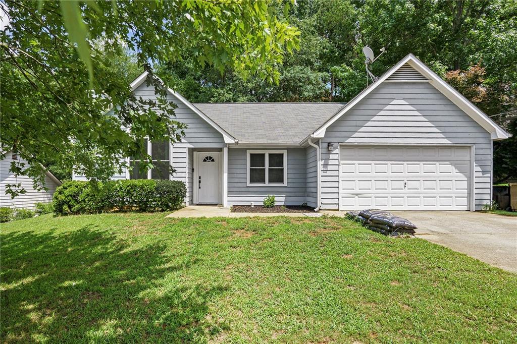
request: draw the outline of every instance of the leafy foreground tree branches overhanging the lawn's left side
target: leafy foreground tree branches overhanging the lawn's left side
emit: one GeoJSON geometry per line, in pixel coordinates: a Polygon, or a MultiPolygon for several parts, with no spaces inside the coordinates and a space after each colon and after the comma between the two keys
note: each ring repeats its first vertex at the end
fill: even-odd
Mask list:
{"type": "MultiPolygon", "coordinates": [[[[121,157],[136,156],[151,167],[145,137],[179,140],[184,124],[175,120],[151,65],[188,52],[196,66],[219,72],[230,66],[241,77],[275,81],[298,42],[296,28],[275,15],[271,1],[6,0],[0,9],[9,18],[0,33],[0,151],[17,149],[28,166],[10,169],[32,177],[35,186],[45,162],[102,180],[125,166],[121,157]],[[107,57],[120,45],[150,72],[157,101],[136,99],[120,77],[119,61],[107,57]]],[[[23,192],[17,186],[7,193],[23,192]]]]}

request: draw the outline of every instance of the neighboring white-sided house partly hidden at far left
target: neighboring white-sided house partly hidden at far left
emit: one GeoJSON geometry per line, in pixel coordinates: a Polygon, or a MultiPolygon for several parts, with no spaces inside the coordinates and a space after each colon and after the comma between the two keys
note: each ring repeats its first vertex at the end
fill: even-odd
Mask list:
{"type": "Polygon", "coordinates": [[[45,176],[45,185],[42,185],[45,186],[47,190],[34,189],[32,178],[27,176],[15,176],[11,173],[9,168],[13,161],[27,163],[16,151],[12,150],[5,154],[5,159],[0,160],[0,207],[34,209],[36,203],[51,202],[56,187],[61,185],[61,181],[47,170],[45,171],[47,174],[45,176]],[[6,185],[18,183],[25,189],[25,193],[14,198],[11,198],[10,195],[6,195],[6,185]]]}

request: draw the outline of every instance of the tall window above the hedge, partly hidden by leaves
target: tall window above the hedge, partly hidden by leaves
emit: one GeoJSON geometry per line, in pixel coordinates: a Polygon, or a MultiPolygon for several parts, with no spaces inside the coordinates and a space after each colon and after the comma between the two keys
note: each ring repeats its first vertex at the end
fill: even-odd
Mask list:
{"type": "Polygon", "coordinates": [[[169,179],[170,176],[170,145],[169,141],[148,142],[145,140],[147,154],[153,160],[153,168],[142,170],[142,162],[138,158],[130,158],[130,179],[169,179]]]}

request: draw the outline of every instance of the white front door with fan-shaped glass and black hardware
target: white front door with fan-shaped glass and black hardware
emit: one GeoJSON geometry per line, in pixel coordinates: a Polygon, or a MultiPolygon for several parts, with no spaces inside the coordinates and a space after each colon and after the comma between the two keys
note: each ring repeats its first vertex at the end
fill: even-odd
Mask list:
{"type": "Polygon", "coordinates": [[[199,152],[197,154],[197,202],[219,203],[220,153],[199,152]]]}

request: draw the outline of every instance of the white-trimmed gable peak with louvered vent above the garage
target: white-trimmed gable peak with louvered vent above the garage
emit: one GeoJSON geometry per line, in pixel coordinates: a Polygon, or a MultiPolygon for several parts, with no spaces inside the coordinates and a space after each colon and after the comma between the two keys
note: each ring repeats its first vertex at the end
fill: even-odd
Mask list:
{"type": "Polygon", "coordinates": [[[416,58],[413,54],[409,54],[404,57],[399,63],[393,66],[389,71],[384,73],[379,79],[360,92],[354,99],[343,107],[336,115],[332,116],[327,122],[325,122],[320,128],[316,129],[311,135],[312,137],[323,137],[325,136],[326,129],[343,116],[347,111],[354,107],[364,97],[369,95],[376,87],[381,85],[383,82],[429,82],[438,91],[442,92],[450,101],[457,105],[463,112],[474,119],[483,129],[491,134],[493,140],[505,139],[510,135],[501,127],[498,126],[490,117],[484,114],[479,108],[466,99],[460,92],[455,90],[449,84],[447,84],[442,78],[434,73],[429,67],[425,66],[422,61],[416,58]],[[418,76],[422,75],[423,78],[418,76]]]}

